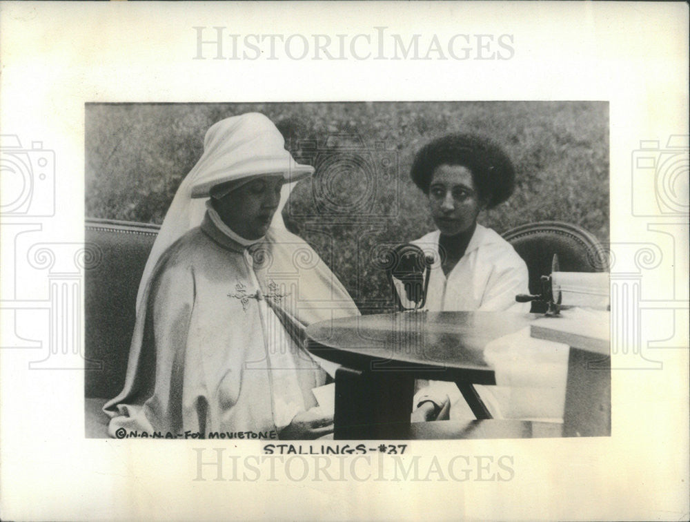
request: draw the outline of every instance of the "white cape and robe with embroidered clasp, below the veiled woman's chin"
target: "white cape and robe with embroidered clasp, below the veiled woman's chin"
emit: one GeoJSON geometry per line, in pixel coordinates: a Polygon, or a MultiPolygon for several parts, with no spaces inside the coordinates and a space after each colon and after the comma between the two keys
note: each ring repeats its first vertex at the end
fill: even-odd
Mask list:
{"type": "Polygon", "coordinates": [[[246,249],[208,215],[161,255],[143,303],[124,389],[103,407],[110,436],[275,437],[326,380],[304,327],[359,313],[304,240],[271,229],[246,249]]]}

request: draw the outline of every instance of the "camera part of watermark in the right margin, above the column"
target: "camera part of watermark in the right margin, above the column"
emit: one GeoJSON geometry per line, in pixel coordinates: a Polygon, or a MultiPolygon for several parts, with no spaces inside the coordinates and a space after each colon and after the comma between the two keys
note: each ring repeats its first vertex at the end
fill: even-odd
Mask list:
{"type": "Polygon", "coordinates": [[[690,136],[671,135],[665,147],[642,140],[632,156],[632,214],[687,216],[690,136]]]}

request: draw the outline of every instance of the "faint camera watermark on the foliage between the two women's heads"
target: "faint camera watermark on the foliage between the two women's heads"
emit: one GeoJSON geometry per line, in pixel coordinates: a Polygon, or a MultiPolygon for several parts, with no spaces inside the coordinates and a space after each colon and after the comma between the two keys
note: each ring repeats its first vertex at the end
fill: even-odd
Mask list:
{"type": "Polygon", "coordinates": [[[384,142],[367,146],[358,134],[291,144],[295,159],[315,168],[308,201],[288,201],[290,218],[393,218],[398,214],[398,156],[384,142]]]}

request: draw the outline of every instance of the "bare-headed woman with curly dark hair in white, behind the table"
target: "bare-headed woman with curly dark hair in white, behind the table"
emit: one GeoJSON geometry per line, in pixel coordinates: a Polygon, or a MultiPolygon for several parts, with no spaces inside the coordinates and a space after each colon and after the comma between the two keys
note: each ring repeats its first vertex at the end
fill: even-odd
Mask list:
{"type": "MultiPolygon", "coordinates": [[[[515,170],[502,148],[477,135],[440,137],[417,153],[411,175],[426,195],[437,226],[413,241],[436,260],[426,309],[528,312],[529,303],[515,302],[518,293],[529,293],[526,264],[511,244],[477,223],[484,209],[501,204],[513,193],[515,170]]],[[[494,416],[500,416],[497,401],[479,388],[494,416]]],[[[453,417],[471,416],[457,387],[441,381],[432,381],[417,394],[415,416],[434,418],[446,402],[452,405],[453,417]]]]}

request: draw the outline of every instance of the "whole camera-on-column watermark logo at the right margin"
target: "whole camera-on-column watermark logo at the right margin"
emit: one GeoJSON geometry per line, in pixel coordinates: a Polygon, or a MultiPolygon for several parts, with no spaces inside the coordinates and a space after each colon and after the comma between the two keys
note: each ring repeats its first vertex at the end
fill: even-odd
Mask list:
{"type": "Polygon", "coordinates": [[[608,250],[611,369],[661,369],[659,349],[688,349],[689,142],[688,135],[642,139],[631,154],[631,215],[655,240],[608,250]],[[648,273],[662,284],[645,280],[648,273]],[[667,325],[665,336],[650,338],[652,325],[667,325]]]}

